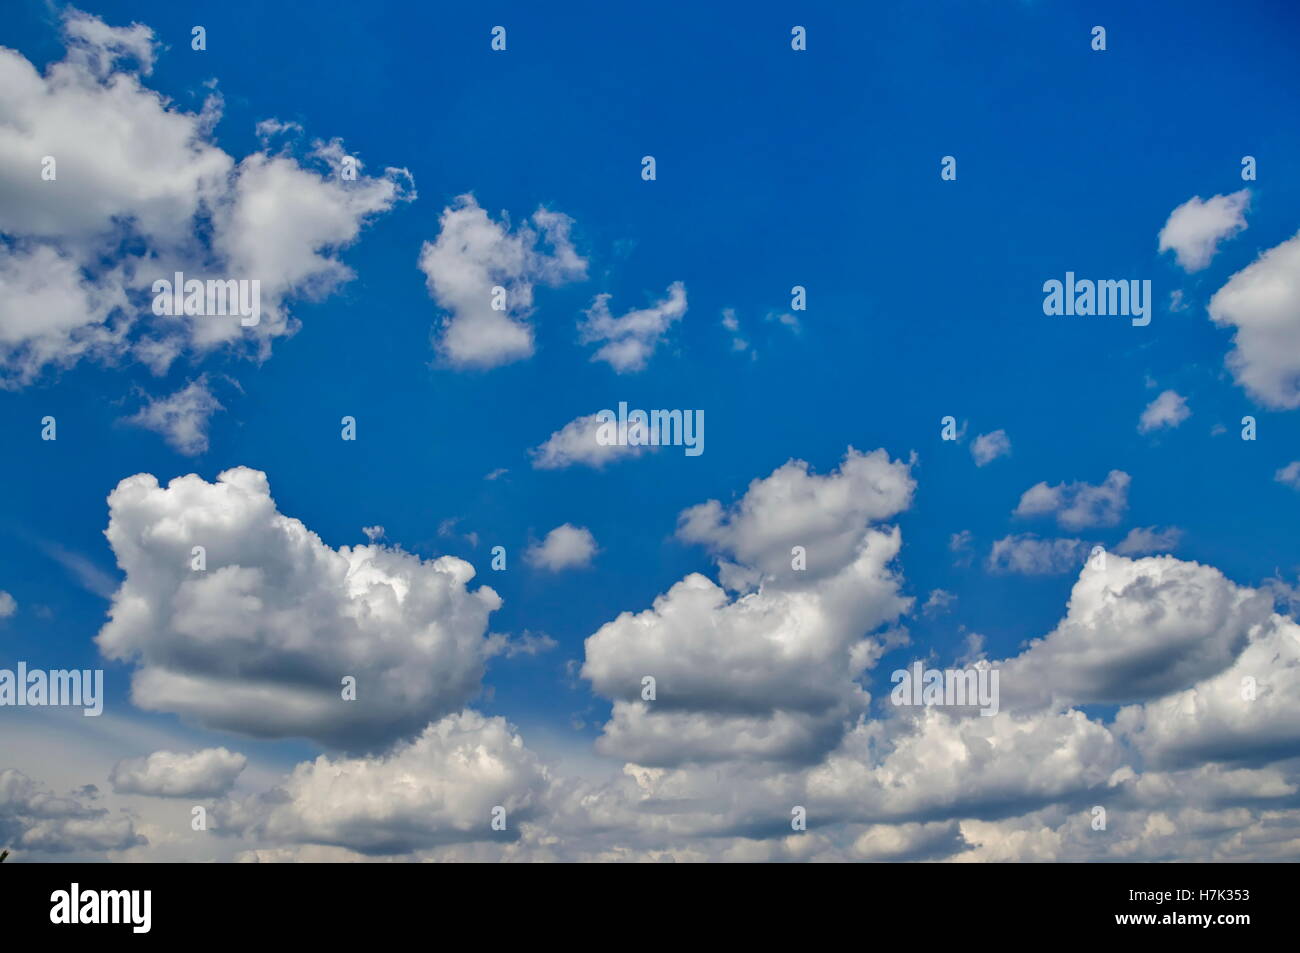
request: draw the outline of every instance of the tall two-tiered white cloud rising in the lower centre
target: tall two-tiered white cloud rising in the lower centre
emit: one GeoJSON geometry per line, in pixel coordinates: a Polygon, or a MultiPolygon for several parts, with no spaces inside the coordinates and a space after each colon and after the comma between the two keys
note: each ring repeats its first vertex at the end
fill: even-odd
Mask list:
{"type": "Polygon", "coordinates": [[[868,701],[855,679],[893,638],[864,634],[911,605],[890,568],[901,536],[871,524],[904,510],[913,486],[906,463],[850,447],[827,476],[792,460],[731,508],[684,511],[682,538],[710,545],[731,588],[751,592],[692,573],[586,640],[582,676],[615,702],[598,750],[677,764],[809,761],[833,746],[868,701]],[[794,545],[807,569],[792,566],[794,545]]]}

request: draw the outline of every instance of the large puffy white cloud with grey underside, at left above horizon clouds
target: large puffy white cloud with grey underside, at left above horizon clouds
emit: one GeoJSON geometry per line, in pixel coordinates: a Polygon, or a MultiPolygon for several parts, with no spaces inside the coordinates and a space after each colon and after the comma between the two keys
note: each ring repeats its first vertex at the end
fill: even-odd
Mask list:
{"type": "Polygon", "coordinates": [[[148,473],[108,498],[126,573],[96,641],[134,662],[131,698],[212,728],[365,746],[419,731],[480,688],[500,598],[474,569],[385,546],[332,549],[277,511],[265,473],[148,473]],[[205,550],[196,571],[195,546],[205,550]],[[356,679],[356,699],[341,683],[356,679]]]}

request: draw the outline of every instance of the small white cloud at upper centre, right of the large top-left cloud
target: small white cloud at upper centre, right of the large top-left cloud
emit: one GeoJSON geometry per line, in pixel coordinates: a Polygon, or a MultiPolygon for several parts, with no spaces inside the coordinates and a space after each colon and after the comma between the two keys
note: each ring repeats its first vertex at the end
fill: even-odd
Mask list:
{"type": "Polygon", "coordinates": [[[533,287],[586,277],[586,260],[569,241],[572,220],[538,208],[530,221],[512,231],[508,220],[494,222],[462,195],[442,211],[438,238],[420,250],[429,294],[447,312],[438,350],[451,364],[491,368],[530,356],[533,287]],[[494,287],[504,290],[503,300],[494,287]]]}

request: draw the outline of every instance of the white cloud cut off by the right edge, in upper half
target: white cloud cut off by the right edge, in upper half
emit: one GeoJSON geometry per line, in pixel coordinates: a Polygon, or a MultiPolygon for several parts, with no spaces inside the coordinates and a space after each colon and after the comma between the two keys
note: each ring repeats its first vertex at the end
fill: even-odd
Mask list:
{"type": "Polygon", "coordinates": [[[1226,360],[1236,382],[1265,407],[1300,407],[1300,235],[1228,278],[1209,312],[1236,329],[1226,360]]]}

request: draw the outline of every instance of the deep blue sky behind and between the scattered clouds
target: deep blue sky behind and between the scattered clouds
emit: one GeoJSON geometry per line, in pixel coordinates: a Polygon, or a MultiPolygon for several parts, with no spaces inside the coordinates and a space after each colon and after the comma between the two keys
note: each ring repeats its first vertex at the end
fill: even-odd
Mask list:
{"type": "MultiPolygon", "coordinates": [[[[474,584],[503,599],[491,632],[556,642],[491,659],[473,707],[575,763],[594,758],[611,705],[576,677],[584,641],[688,573],[716,579],[710,550],[675,534],[679,514],[728,506],[790,459],[827,475],[849,446],[915,454],[914,498],[890,520],[902,592],[916,598],[900,620],[911,644],[863,675],[878,703],[889,672],[913,658],[952,663],[971,632],[989,658],[1013,657],[1062,619],[1078,569],[991,569],[991,546],[1010,534],[1114,547],[1135,528],[1176,528],[1169,551],[1180,560],[1240,586],[1296,581],[1300,494],[1274,475],[1300,458],[1300,419],[1234,380],[1234,329],[1206,313],[1231,276],[1296,234],[1300,68],[1288,4],[81,9],[152,29],[160,47],[142,82],[172,109],[198,112],[216,81],[209,140],[237,161],[260,148],[256,124],[276,118],[302,126],[304,143],[341,138],[367,174],[406,169],[417,192],[369,216],[334,254],[351,280],[318,300],[290,296],[300,329],[261,363],[186,352],[156,374],[133,355],[87,359],[0,391],[12,451],[0,589],[17,602],[0,620],[3,655],[105,668],[109,710],[133,724],[283,770],[320,750],[298,737],[200,732],[133,706],[133,666],[105,662],[92,638],[122,579],[105,499],[135,473],[211,482],[251,467],[280,512],[330,547],[363,543],[361,528],[378,524],[408,553],[468,560],[474,584]],[[190,49],[196,22],[202,52],[190,49]],[[506,52],[489,47],[497,23],[506,52]],[[790,49],[794,23],[807,27],[803,52],[790,49]],[[1096,23],[1104,52],[1089,48],[1096,23]],[[655,156],[653,182],[641,178],[644,155],[655,156]],[[1256,181],[1242,179],[1247,155],[1256,181]],[[941,179],[942,156],[956,157],[956,181],[941,179]],[[1248,228],[1206,268],[1188,273],[1158,251],[1175,208],[1242,189],[1248,228]],[[540,207],[568,216],[586,260],[585,278],[537,283],[532,356],[488,369],[439,356],[446,312],[419,268],[421,244],[464,194],[515,226],[540,207]],[[1149,326],[1045,316],[1043,282],[1067,270],[1149,280],[1149,326]],[[592,359],[577,321],[595,295],[623,315],[676,281],[688,311],[645,369],[592,359]],[[780,316],[796,285],[807,309],[792,326],[780,316]],[[204,451],[122,423],[202,373],[224,407],[204,451]],[[1166,390],[1191,416],[1140,432],[1166,390]],[[702,408],[705,452],[532,465],[530,449],[620,400],[702,408]],[[39,439],[46,415],[58,421],[55,442],[39,439]],[[343,415],[358,421],[355,442],[339,439],[343,415]],[[940,438],[945,415],[963,439],[940,438]],[[1239,439],[1244,415],[1258,421],[1253,442],[1239,439]],[[1011,450],[976,467],[971,441],[994,430],[1011,450]],[[1098,485],[1110,471],[1131,477],[1112,525],[1013,516],[1040,481],[1098,485]],[[454,528],[439,532],[447,520],[454,528]],[[530,567],[528,545],[566,523],[593,534],[590,566],[530,567]],[[950,550],[962,530],[967,564],[950,550]],[[495,545],[507,547],[504,572],[489,568],[495,545]],[[956,597],[949,611],[920,611],[933,590],[956,597]]],[[[17,4],[0,46],[43,70],[64,55],[62,13],[17,4]]],[[[60,166],[60,178],[74,174],[60,166]]]]}

